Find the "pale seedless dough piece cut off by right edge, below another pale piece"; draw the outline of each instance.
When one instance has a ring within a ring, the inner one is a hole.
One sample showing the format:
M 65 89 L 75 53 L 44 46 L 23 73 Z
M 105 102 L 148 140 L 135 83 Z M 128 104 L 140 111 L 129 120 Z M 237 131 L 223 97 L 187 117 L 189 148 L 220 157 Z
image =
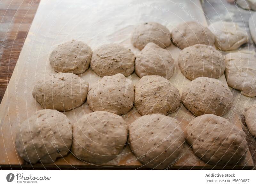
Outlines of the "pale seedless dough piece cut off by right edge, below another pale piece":
M 256 96 L 256 58 L 252 54 L 232 52 L 226 55 L 228 86 L 248 97 Z

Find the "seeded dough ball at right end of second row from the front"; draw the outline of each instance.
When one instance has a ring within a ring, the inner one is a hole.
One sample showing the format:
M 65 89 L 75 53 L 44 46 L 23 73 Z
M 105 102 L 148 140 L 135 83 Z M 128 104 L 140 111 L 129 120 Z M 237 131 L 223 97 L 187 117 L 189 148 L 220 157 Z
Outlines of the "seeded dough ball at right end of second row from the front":
M 195 116 L 203 114 L 226 114 L 233 103 L 233 95 L 221 81 L 199 77 L 189 82 L 181 96 L 184 106 Z

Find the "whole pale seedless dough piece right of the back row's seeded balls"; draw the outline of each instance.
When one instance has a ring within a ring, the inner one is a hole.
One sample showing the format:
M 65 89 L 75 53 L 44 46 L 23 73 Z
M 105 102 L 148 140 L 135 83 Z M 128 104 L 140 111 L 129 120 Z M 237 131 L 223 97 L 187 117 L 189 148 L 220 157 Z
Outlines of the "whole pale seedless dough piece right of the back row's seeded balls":
M 236 23 L 218 21 L 208 27 L 215 35 L 215 46 L 220 50 L 236 50 L 248 43 L 246 31 Z

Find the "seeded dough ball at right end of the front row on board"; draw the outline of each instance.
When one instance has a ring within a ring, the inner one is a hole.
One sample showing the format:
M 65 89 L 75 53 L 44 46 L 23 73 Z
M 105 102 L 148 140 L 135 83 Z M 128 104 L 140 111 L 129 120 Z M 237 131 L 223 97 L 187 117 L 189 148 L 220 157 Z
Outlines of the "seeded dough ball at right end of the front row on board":
M 206 163 L 236 165 L 246 155 L 244 131 L 220 116 L 198 116 L 189 123 L 186 133 L 188 144 Z

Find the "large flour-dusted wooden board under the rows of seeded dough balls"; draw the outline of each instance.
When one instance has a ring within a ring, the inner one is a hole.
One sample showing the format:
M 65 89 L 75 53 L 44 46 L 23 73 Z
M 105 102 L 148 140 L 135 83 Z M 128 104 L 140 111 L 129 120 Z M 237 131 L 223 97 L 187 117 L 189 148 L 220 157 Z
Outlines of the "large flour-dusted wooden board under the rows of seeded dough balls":
M 187 13 L 190 11 L 189 13 Z M 95 4 L 94 1 L 78 1 L 75 4 L 71 1 L 42 0 L 38 11 L 29 30 L 28 37 L 20 53 L 19 60 L 14 69 L 12 78 L 5 92 L 0 105 L 1 137 L 0 137 L 0 165 L 12 167 L 29 167 L 17 155 L 14 141 L 17 128 L 27 117 L 30 117 L 42 107 L 32 97 L 35 80 L 44 78 L 45 75 L 56 73 L 49 65 L 48 57 L 53 47 L 59 43 L 78 39 L 88 43 L 92 49 L 103 43 L 118 43 L 130 48 L 135 54 L 139 52 L 130 43 L 131 31 L 136 24 L 141 22 L 156 21 L 170 30 L 172 27 L 183 21 L 196 20 L 207 25 L 201 4 L 195 1 L 145 1 L 138 4 L 135 0 L 130 1 L 101 1 Z M 168 47 L 173 58 L 179 54 L 175 46 Z M 91 69 L 81 76 L 89 83 L 97 81 L 98 77 Z M 128 77 L 134 84 L 139 80 L 136 74 Z M 226 83 L 225 76 L 220 80 Z M 182 87 L 189 82 L 181 74 L 178 65 L 175 65 L 175 73 L 170 81 L 181 91 Z M 75 122 L 85 113 L 92 112 L 87 102 L 82 106 L 65 112 L 68 118 Z M 131 123 L 139 113 L 135 108 L 125 114 L 123 118 Z M 178 119 L 181 127 L 185 130 L 189 121 L 194 116 L 184 107 L 170 114 Z M 239 118 L 233 109 L 228 112 L 225 118 L 241 128 Z M 35 164 L 33 167 L 73 167 L 73 168 L 145 168 L 126 145 L 120 156 L 103 165 L 91 165 L 76 159 L 72 154 L 58 159 L 54 164 Z M 227 166 L 227 169 L 249 169 L 253 166 L 250 152 L 246 158 L 237 165 Z M 170 168 L 195 168 L 212 169 L 223 168 L 205 164 L 199 160 L 192 149 L 185 144 L 183 153 L 178 157 L 177 162 Z

